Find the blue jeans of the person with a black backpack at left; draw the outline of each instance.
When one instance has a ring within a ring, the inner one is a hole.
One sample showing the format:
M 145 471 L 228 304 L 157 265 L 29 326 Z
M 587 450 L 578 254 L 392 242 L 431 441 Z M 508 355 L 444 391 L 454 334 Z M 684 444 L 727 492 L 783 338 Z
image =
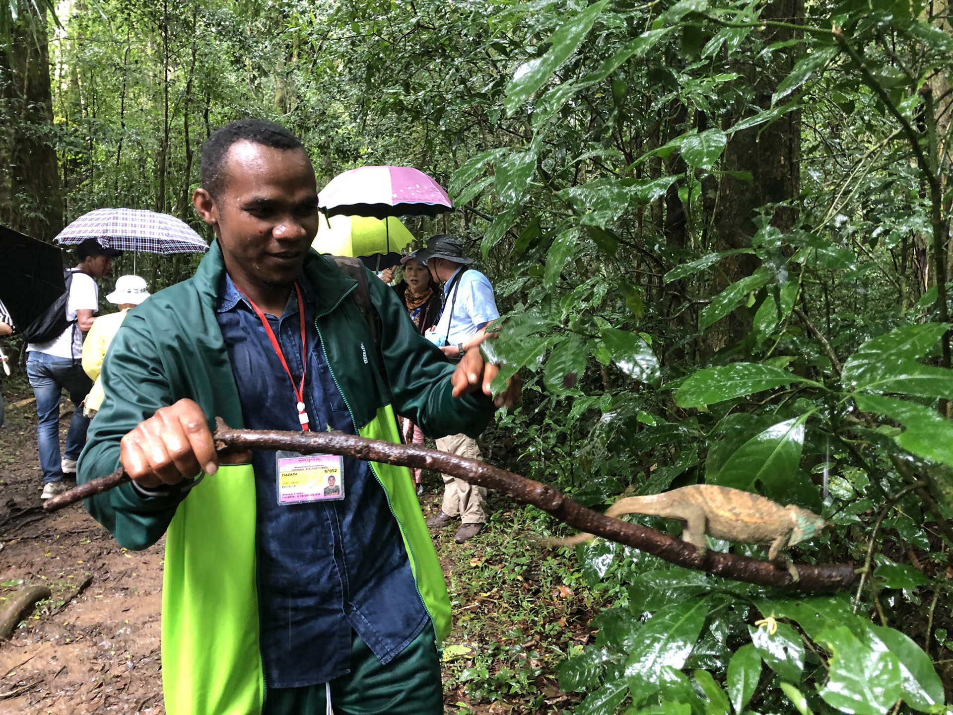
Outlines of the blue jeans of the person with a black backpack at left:
M 76 406 L 72 413 L 70 432 L 66 438 L 66 457 L 75 460 L 86 444 L 86 430 L 90 419 L 83 417 L 80 403 L 92 387 L 92 380 L 83 372 L 80 360 L 30 351 L 27 357 L 27 377 L 36 396 L 37 441 L 40 447 L 40 466 L 43 483 L 63 479 L 59 451 L 59 401 L 65 389 Z

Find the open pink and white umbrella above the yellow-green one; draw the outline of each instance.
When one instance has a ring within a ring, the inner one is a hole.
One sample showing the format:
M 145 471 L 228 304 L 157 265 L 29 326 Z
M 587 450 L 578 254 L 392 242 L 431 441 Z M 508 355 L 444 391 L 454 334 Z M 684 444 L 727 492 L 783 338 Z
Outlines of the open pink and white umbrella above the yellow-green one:
M 436 216 L 454 210 L 434 179 L 407 166 L 364 166 L 338 174 L 318 196 L 329 216 Z

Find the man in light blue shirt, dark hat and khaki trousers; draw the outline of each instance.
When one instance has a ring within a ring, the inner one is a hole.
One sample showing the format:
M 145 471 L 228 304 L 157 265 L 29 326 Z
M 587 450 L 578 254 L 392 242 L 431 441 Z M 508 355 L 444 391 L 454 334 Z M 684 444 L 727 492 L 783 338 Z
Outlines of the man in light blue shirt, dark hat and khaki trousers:
M 482 342 L 486 326 L 499 317 L 493 286 L 486 276 L 468 268 L 473 258 L 463 255 L 463 244 L 452 235 L 435 235 L 419 252 L 437 283 L 443 283 L 443 313 L 424 336 L 451 360 L 459 360 L 468 348 Z M 450 435 L 436 440 L 441 452 L 480 459 L 476 439 Z M 454 541 L 473 539 L 486 523 L 486 489 L 452 475 L 443 475 L 443 505 L 436 517 L 427 521 L 432 528 L 445 528 L 460 518 Z

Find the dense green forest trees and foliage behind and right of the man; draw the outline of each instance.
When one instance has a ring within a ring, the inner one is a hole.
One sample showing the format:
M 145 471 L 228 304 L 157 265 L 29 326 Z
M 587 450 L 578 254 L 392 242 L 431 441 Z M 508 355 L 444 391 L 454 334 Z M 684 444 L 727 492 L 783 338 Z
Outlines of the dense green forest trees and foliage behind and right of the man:
M 501 379 L 526 379 L 492 460 L 594 506 L 757 491 L 833 523 L 797 561 L 863 569 L 794 599 L 578 547 L 606 608 L 559 670 L 578 715 L 943 710 L 945 0 L 10 0 L 0 30 L 4 223 L 126 206 L 204 232 L 201 143 L 248 115 L 299 133 L 319 186 L 415 166 L 458 211 L 409 226 L 481 255 Z M 196 265 L 138 260 L 154 288 Z

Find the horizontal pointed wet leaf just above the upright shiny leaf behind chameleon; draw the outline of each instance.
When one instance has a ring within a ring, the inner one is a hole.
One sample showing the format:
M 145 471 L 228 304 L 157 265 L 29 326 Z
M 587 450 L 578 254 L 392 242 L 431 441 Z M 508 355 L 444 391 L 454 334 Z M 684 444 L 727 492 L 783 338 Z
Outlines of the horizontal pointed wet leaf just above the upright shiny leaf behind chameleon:
M 681 383 L 675 401 L 679 407 L 704 407 L 800 381 L 797 375 L 779 367 L 757 362 L 733 362 L 699 370 Z

